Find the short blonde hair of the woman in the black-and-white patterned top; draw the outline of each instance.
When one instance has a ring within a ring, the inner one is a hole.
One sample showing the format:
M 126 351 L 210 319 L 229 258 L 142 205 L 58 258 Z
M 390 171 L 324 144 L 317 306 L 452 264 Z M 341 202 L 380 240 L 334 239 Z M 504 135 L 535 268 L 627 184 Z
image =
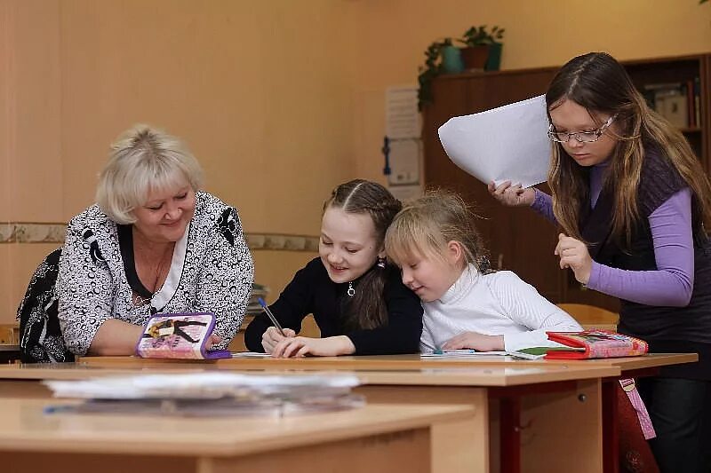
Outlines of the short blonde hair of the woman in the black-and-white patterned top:
M 134 125 L 111 145 L 108 163 L 101 170 L 96 201 L 117 224 L 136 222 L 133 209 L 148 201 L 153 190 L 188 183 L 194 191 L 203 185 L 203 169 L 179 138 L 148 125 Z

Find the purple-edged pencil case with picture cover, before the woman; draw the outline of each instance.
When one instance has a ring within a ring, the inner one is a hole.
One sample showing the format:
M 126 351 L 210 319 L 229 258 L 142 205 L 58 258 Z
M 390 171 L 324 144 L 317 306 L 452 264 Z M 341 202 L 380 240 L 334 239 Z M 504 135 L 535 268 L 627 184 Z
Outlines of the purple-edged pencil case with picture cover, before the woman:
M 210 312 L 156 314 L 146 322 L 136 344 L 142 358 L 223 359 L 226 350 L 207 350 L 215 327 L 215 314 Z

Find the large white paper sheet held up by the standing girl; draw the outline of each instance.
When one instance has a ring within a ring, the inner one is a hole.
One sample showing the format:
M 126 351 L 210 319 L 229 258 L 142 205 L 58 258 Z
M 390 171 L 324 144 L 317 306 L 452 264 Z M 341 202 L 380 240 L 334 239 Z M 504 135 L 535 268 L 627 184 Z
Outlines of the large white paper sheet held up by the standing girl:
M 439 128 L 439 139 L 451 161 L 484 184 L 531 187 L 547 180 L 547 130 L 546 98 L 540 95 L 451 118 Z

